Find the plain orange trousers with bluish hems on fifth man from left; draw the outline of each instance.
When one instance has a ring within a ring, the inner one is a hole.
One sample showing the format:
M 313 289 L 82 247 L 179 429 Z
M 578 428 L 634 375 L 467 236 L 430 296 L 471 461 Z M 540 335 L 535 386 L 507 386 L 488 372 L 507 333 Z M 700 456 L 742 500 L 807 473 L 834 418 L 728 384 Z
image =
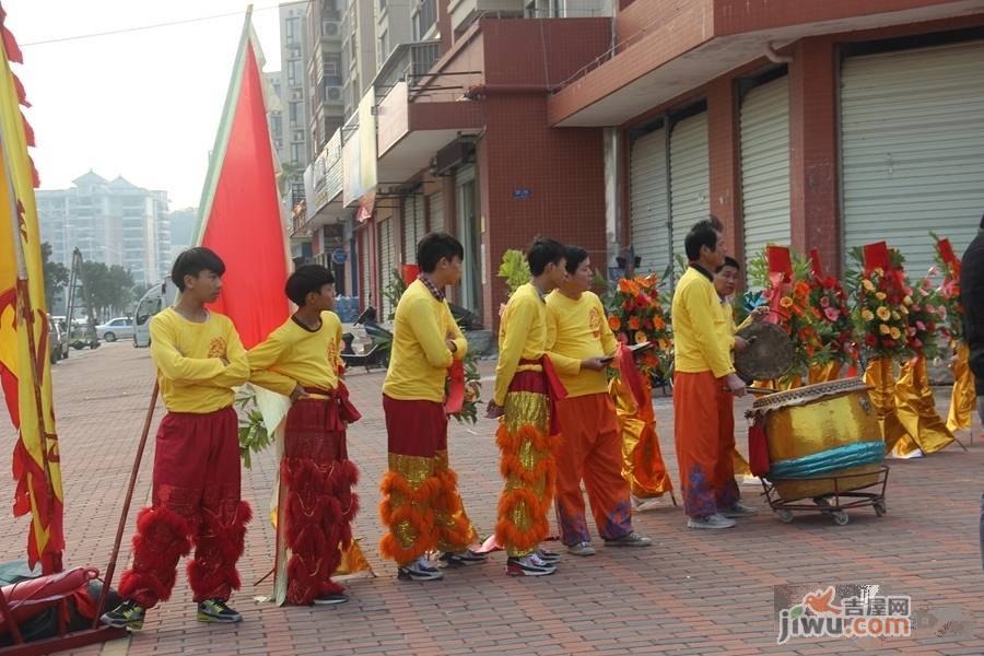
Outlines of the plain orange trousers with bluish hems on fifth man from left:
M 622 478 L 622 433 L 607 393 L 559 400 L 562 442 L 557 454 L 557 523 L 567 547 L 591 539 L 581 480 L 598 534 L 608 540 L 632 532 L 629 483 Z

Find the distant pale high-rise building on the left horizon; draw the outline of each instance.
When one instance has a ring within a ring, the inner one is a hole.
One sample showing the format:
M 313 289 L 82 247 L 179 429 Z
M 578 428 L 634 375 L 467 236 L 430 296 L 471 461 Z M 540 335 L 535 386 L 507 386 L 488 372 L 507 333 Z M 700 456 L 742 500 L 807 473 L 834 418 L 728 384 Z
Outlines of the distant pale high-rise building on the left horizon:
M 152 191 L 118 176 L 107 180 L 90 171 L 70 189 L 39 189 L 42 238 L 52 261 L 71 267 L 79 248 L 87 261 L 129 269 L 138 284 L 161 280 L 171 268 L 167 192 Z

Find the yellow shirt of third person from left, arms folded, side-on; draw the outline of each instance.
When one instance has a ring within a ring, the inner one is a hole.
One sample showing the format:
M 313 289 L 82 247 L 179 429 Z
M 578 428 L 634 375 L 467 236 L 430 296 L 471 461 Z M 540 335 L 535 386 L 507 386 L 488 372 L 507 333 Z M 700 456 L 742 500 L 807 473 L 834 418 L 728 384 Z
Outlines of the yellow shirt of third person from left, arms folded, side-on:
M 454 353 L 444 341 L 448 333 L 457 347 Z M 414 280 L 397 304 L 383 394 L 401 401 L 443 403 L 447 367 L 467 352 L 468 342 L 447 301 L 437 301 L 424 283 Z

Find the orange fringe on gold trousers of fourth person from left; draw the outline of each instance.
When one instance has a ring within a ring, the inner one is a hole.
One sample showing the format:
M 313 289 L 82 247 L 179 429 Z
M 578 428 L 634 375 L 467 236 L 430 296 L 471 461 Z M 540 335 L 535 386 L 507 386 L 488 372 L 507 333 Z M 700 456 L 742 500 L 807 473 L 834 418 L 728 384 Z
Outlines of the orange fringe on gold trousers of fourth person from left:
M 495 538 L 511 554 L 528 553 L 547 539 L 550 531 L 547 514 L 553 503 L 557 481 L 553 453 L 560 436 L 547 435 L 532 425 L 520 426 L 511 434 L 505 424 L 501 424 L 495 442 L 502 452 L 499 470 L 506 481 L 499 500 Z M 519 457 L 526 442 L 537 453 L 532 469 L 527 469 Z M 540 489 L 542 492 L 538 491 Z M 528 517 L 526 527 L 516 522 L 523 514 Z

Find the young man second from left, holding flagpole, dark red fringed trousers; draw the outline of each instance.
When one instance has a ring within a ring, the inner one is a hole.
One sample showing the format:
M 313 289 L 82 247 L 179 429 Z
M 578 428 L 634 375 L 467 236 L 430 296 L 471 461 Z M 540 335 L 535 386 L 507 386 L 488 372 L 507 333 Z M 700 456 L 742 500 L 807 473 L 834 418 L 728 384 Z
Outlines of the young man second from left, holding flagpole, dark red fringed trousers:
M 361 414 L 339 374 L 341 321 L 335 276 L 320 265 L 291 273 L 286 295 L 297 306 L 280 328 L 249 350 L 249 380 L 290 397 L 280 461 L 273 598 L 278 604 L 348 601 L 331 575 L 352 543 L 359 470 L 349 460 L 348 424 Z

